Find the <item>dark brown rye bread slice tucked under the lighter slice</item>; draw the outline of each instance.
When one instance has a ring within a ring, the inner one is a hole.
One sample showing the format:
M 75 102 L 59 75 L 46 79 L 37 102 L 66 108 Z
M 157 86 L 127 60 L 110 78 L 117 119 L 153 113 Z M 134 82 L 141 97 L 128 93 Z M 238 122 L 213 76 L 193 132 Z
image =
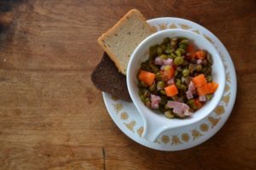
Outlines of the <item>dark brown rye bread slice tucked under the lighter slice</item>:
M 126 77 L 118 71 L 108 54 L 103 54 L 101 62 L 96 66 L 90 78 L 96 88 L 118 99 L 131 102 Z

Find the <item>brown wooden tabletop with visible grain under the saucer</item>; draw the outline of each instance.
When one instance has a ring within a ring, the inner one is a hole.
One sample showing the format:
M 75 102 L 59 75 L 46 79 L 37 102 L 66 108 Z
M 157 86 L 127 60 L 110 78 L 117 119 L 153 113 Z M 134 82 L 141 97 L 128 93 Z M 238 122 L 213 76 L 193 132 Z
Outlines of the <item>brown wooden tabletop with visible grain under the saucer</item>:
M 148 149 L 122 133 L 90 82 L 96 38 L 129 9 L 212 31 L 236 65 L 236 105 L 193 149 Z M 256 3 L 246 1 L 0 1 L 0 169 L 255 169 Z

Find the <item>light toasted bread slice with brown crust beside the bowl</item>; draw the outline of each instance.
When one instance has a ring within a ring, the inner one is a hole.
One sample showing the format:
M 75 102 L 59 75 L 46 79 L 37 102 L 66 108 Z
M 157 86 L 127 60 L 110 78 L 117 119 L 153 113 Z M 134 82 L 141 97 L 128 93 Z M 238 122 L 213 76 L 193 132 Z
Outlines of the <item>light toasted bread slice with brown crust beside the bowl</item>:
M 131 9 L 117 24 L 98 38 L 98 43 L 119 71 L 125 75 L 132 52 L 151 33 L 143 14 L 137 9 Z

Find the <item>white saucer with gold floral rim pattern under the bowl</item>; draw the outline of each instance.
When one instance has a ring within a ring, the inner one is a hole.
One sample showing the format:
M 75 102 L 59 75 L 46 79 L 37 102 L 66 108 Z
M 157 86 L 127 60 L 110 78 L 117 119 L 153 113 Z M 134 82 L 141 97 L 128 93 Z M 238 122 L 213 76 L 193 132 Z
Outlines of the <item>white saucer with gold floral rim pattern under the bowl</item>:
M 143 120 L 137 112 L 135 105 L 123 100 L 114 99 L 106 93 L 102 93 L 103 99 L 113 122 L 121 131 L 137 143 L 155 150 L 185 150 L 210 139 L 227 121 L 236 99 L 236 71 L 230 54 L 224 48 L 222 42 L 203 26 L 189 20 L 167 17 L 148 20 L 148 24 L 154 31 L 173 28 L 194 31 L 207 38 L 209 42 L 212 42 L 224 61 L 226 71 L 226 86 L 221 102 L 211 115 L 201 122 L 166 131 L 153 143 L 141 137 L 143 133 Z

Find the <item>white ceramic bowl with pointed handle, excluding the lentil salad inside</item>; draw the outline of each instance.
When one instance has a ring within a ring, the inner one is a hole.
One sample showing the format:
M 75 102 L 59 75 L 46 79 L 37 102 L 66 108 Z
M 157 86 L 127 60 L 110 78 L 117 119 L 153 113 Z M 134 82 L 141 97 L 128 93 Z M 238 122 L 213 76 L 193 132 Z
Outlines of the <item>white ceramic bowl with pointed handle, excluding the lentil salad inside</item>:
M 157 43 L 161 43 L 165 37 L 186 37 L 189 40 L 192 40 L 198 48 L 205 49 L 207 52 L 212 54 L 212 79 L 214 82 L 218 82 L 218 89 L 214 93 L 212 99 L 208 101 L 206 105 L 204 105 L 200 110 L 195 111 L 193 116 L 185 119 L 168 119 L 166 116 L 164 116 L 164 114 L 150 110 L 143 104 L 138 95 L 137 71 L 140 68 L 141 63 L 148 59 L 149 47 Z M 187 126 L 195 122 L 199 122 L 201 119 L 208 116 L 218 105 L 218 102 L 224 94 L 225 71 L 218 51 L 212 46 L 212 43 L 207 41 L 206 38 L 201 37 L 192 31 L 170 29 L 158 31 L 152 34 L 137 46 L 131 55 L 131 59 L 128 64 L 126 80 L 131 99 L 134 105 L 137 107 L 138 112 L 143 117 L 143 137 L 150 141 L 154 141 L 158 138 L 160 133 L 163 133 L 166 130 L 175 127 Z

